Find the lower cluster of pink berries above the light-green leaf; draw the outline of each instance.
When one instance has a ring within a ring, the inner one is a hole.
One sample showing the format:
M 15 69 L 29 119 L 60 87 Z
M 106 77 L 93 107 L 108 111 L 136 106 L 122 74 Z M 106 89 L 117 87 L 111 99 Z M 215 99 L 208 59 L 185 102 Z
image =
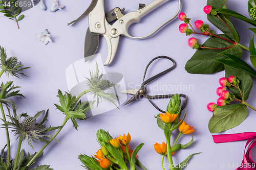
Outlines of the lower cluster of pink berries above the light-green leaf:
M 232 93 L 229 93 L 225 86 L 236 86 L 239 84 L 239 80 L 234 77 L 234 76 L 229 76 L 229 78 L 220 78 L 219 79 L 219 84 L 221 87 L 218 87 L 216 90 L 216 93 L 220 98 L 217 100 L 217 105 L 218 106 L 225 106 L 227 103 L 230 103 L 233 101 L 234 95 Z M 208 103 L 207 104 L 207 109 L 209 111 L 214 111 L 217 105 L 214 102 Z

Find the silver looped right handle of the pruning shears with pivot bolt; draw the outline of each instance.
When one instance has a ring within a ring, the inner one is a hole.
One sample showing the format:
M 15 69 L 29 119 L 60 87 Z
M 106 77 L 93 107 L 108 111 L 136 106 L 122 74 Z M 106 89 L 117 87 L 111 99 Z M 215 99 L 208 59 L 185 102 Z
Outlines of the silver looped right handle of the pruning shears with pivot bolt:
M 145 38 L 151 37 L 158 30 L 160 30 L 168 22 L 172 21 L 179 14 L 180 9 L 181 9 L 181 2 L 180 2 L 180 0 L 178 0 L 179 8 L 178 8 L 178 11 L 176 12 L 176 14 L 173 17 L 171 17 L 168 20 L 166 20 L 165 22 L 163 22 L 152 33 L 150 33 L 148 35 L 145 35 L 145 36 L 142 36 L 142 37 L 133 37 L 133 36 L 131 36 L 127 32 L 127 30 L 129 28 L 129 26 L 132 25 L 132 23 L 139 22 L 142 17 L 144 17 L 146 14 L 150 13 L 154 9 L 158 8 L 159 6 L 163 5 L 167 1 L 169 1 L 169 0 L 155 0 L 155 1 L 153 1 L 150 4 L 148 4 L 147 6 L 145 6 L 144 8 L 142 8 L 140 10 L 133 11 L 133 12 L 130 12 L 130 13 L 126 14 L 126 15 L 121 16 L 120 18 L 118 18 L 118 20 L 109 29 L 109 35 L 111 37 L 113 37 L 113 38 L 118 37 L 120 35 L 124 35 L 124 36 L 126 36 L 128 38 L 131 38 L 131 39 L 145 39 Z M 116 12 L 116 15 L 118 15 L 118 11 Z

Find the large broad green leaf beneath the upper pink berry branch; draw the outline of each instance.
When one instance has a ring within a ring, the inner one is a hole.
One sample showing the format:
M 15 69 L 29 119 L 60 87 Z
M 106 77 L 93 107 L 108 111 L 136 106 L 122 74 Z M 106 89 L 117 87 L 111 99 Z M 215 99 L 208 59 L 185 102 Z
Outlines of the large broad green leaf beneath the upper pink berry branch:
M 223 34 L 218 36 L 229 39 L 226 35 Z M 225 48 L 231 45 L 233 44 L 226 40 L 218 37 L 212 37 L 207 39 L 202 46 L 211 48 Z M 187 61 L 185 69 L 190 74 L 212 74 L 214 72 L 224 70 L 223 64 L 216 62 L 215 59 L 227 59 L 227 57 L 223 56 L 223 54 L 231 54 L 241 58 L 242 53 L 243 50 L 239 45 L 234 45 L 231 48 L 227 48 L 225 50 L 211 50 L 206 48 L 199 49 Z

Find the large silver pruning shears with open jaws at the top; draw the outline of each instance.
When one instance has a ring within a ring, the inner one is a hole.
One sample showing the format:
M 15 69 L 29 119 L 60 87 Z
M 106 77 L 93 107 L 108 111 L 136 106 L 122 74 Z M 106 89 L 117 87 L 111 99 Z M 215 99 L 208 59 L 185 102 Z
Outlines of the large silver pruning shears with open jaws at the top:
M 123 15 L 124 9 L 114 8 L 108 13 L 104 13 L 104 1 L 97 0 L 97 3 L 94 9 L 89 13 L 89 31 L 86 34 L 86 43 L 84 43 L 84 58 L 85 61 L 88 61 L 92 55 L 97 51 L 99 40 L 99 35 L 103 36 L 108 44 L 108 57 L 104 65 L 109 65 L 116 54 L 117 46 L 119 42 L 119 37 L 121 35 L 131 38 L 131 39 L 145 39 L 154 35 L 159 29 L 165 26 L 168 22 L 172 21 L 179 13 L 181 8 L 181 2 L 179 2 L 179 8 L 177 13 L 163 22 L 159 27 L 157 27 L 152 33 L 142 36 L 142 37 L 133 37 L 128 32 L 127 29 L 134 22 L 139 22 L 142 17 L 150 13 L 157 7 L 163 5 L 169 0 L 155 0 L 152 3 L 144 6 L 139 5 L 139 10 L 127 13 Z M 112 15 L 114 14 L 114 15 Z M 117 20 L 116 20 L 117 19 Z M 113 25 L 110 25 L 109 22 L 116 20 Z

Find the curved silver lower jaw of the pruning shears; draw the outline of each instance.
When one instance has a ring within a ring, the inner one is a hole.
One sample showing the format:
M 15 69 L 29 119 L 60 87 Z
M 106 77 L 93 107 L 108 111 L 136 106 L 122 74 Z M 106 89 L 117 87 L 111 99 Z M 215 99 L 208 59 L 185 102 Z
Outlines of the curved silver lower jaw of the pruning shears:
M 107 35 L 107 34 L 103 34 L 103 36 L 106 40 L 106 43 L 108 44 L 108 57 L 106 58 L 104 65 L 109 65 L 110 63 L 112 63 L 116 55 L 116 50 L 117 50 L 120 36 L 116 38 L 112 38 L 110 35 Z

